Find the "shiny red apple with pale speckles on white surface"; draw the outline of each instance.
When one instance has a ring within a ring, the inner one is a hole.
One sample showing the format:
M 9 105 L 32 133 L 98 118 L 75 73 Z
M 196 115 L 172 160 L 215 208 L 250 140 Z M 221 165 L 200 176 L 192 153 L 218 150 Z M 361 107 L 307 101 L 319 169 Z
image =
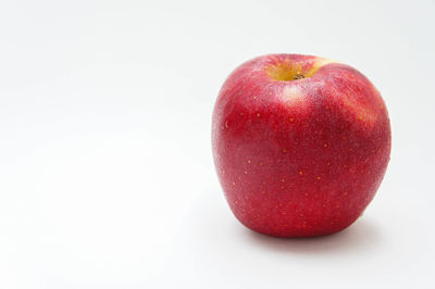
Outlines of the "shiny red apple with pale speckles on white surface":
M 265 235 L 348 227 L 375 196 L 390 147 L 380 92 L 357 70 L 322 58 L 248 61 L 225 80 L 213 111 L 225 198 L 237 219 Z

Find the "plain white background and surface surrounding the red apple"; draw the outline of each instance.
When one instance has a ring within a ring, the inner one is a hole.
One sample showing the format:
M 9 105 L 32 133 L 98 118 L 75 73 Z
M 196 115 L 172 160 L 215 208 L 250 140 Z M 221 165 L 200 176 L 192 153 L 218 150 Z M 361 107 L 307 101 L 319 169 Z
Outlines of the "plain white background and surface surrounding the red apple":
M 434 288 L 434 1 L 1 1 L 0 288 Z M 304 53 L 381 90 L 391 161 L 330 237 L 253 234 L 214 173 L 220 86 Z

